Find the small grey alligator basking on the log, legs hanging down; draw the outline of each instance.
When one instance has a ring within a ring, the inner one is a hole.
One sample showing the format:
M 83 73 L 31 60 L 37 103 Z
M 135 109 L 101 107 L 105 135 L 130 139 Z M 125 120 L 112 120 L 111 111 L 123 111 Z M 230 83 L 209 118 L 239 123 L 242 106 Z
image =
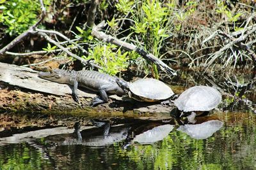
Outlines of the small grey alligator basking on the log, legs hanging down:
M 99 96 L 93 98 L 90 106 L 108 103 L 108 94 L 116 94 L 118 96 L 124 96 L 125 94 L 124 90 L 116 83 L 117 77 L 98 71 L 54 69 L 51 72 L 40 72 L 38 76 L 57 83 L 72 85 L 72 96 L 76 102 L 79 102 L 77 86 L 98 92 Z

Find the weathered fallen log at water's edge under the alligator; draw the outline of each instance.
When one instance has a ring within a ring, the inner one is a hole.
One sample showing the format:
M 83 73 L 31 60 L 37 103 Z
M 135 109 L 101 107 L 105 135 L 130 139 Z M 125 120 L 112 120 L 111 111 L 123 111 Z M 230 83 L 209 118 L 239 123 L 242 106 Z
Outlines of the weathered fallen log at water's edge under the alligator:
M 38 77 L 38 71 L 27 67 L 0 62 L 0 110 L 70 111 L 83 110 L 95 114 L 119 111 L 132 113 L 169 113 L 171 108 L 159 103 L 140 103 L 124 97 L 109 96 L 109 103 L 90 108 L 90 102 L 97 94 L 79 89 L 80 103 L 72 99 L 72 90 L 67 84 L 60 84 Z

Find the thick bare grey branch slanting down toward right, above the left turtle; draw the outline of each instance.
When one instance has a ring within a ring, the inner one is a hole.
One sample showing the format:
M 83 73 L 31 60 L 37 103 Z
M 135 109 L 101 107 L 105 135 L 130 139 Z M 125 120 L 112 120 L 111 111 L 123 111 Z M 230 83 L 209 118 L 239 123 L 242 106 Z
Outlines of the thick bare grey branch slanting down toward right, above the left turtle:
M 167 73 L 170 73 L 172 75 L 176 75 L 175 71 L 167 66 L 163 61 L 157 59 L 154 55 L 151 53 L 147 53 L 144 50 L 138 48 L 135 45 L 131 45 L 130 43 L 126 43 L 124 41 L 121 41 L 120 39 L 114 38 L 113 36 L 109 36 L 108 34 L 105 34 L 102 31 L 99 31 L 101 27 L 104 26 L 104 22 L 101 22 L 99 25 L 93 27 L 92 29 L 92 35 L 95 36 L 98 39 L 101 39 L 102 41 L 112 43 L 114 45 L 120 46 L 122 48 L 125 48 L 129 51 L 134 51 L 139 53 L 144 59 L 150 60 L 151 62 L 154 62 L 157 66 L 159 66 L 163 71 L 166 71 Z

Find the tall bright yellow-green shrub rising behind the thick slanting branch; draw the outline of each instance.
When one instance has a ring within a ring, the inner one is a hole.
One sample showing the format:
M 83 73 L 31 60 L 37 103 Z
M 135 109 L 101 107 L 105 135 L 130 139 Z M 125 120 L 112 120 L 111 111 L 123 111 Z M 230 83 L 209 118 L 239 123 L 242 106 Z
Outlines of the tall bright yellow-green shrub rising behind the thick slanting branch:
M 136 37 L 145 43 L 147 52 L 158 56 L 163 39 L 169 36 L 167 33 L 168 26 L 166 26 L 168 8 L 164 7 L 163 3 L 158 0 L 142 1 L 141 4 L 135 1 L 135 4 L 136 8 L 133 9 L 134 1 L 119 1 L 116 8 L 125 15 L 131 13 L 131 20 L 134 21 L 131 29 L 137 34 Z M 158 78 L 157 67 L 151 66 L 154 76 Z

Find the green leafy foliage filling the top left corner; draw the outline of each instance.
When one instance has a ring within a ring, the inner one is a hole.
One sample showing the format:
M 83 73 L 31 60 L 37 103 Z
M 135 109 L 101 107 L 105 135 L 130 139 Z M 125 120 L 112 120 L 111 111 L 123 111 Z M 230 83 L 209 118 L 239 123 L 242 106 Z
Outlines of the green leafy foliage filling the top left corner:
M 26 31 L 37 21 L 40 14 L 40 4 L 37 0 L 0 1 L 0 21 L 6 27 L 5 32 L 15 36 Z

